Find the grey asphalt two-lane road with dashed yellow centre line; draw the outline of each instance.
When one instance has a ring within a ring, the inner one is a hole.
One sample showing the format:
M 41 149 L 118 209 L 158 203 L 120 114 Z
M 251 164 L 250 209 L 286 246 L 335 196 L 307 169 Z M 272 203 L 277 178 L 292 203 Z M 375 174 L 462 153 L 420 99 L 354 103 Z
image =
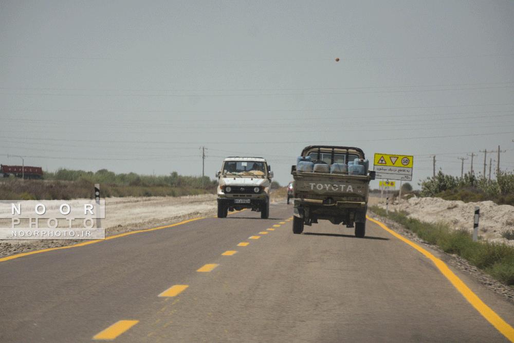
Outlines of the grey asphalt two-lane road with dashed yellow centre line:
M 0 262 L 0 341 L 507 341 L 378 225 L 365 239 L 327 222 L 295 235 L 291 213 L 276 205 L 269 220 L 247 210 Z M 514 305 L 452 270 L 514 324 Z M 104 331 L 120 320 L 133 321 Z

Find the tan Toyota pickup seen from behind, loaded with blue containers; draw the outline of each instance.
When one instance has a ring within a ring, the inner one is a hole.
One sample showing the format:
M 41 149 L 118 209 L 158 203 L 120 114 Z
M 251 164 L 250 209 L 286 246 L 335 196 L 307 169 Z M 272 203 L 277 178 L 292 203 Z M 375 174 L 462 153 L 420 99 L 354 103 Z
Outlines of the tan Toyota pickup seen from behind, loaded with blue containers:
M 293 233 L 304 225 L 328 220 L 354 227 L 355 236 L 365 236 L 370 180 L 364 152 L 354 147 L 308 146 L 292 166 L 295 197 Z M 355 164 L 355 166 L 354 166 Z

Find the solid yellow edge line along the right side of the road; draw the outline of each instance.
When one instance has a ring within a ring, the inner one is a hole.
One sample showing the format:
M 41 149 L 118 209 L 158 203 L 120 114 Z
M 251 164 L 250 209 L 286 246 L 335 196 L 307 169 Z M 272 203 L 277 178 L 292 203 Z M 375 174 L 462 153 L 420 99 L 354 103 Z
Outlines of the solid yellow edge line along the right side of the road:
M 474 294 L 473 291 L 471 291 L 470 288 L 464 283 L 464 281 L 459 279 L 442 260 L 436 258 L 434 255 L 430 254 L 429 251 L 420 247 L 416 243 L 408 240 L 403 236 L 400 236 L 400 234 L 394 232 L 385 224 L 377 220 L 374 220 L 367 215 L 366 218 L 368 218 L 369 221 L 380 226 L 382 229 L 391 233 L 397 239 L 409 244 L 411 247 L 418 250 L 419 252 L 421 252 L 421 254 L 425 255 L 425 257 L 431 260 L 439 269 L 439 271 L 452 283 L 452 285 L 457 289 L 457 291 L 460 292 L 464 296 L 464 298 L 466 298 L 466 300 L 469 301 L 469 303 L 475 308 L 476 311 L 478 311 L 488 322 L 490 322 L 494 328 L 496 328 L 505 337 L 507 337 L 508 340 L 514 342 L 514 329 L 497 313 L 495 313 L 489 306 L 487 306 L 482 301 L 482 299 L 480 299 L 476 294 Z

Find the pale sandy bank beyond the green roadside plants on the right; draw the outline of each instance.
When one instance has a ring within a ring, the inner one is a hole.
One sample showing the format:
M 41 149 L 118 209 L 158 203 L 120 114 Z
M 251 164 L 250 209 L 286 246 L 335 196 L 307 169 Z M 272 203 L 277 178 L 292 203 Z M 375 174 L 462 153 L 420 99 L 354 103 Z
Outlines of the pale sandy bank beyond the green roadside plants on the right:
M 371 198 L 370 204 L 386 208 L 380 198 Z M 480 207 L 479 236 L 490 242 L 514 246 L 514 240 L 501 236 L 502 232 L 514 230 L 514 206 L 497 205 L 492 201 L 464 203 L 448 201 L 437 197 L 412 197 L 389 204 L 391 211 L 406 211 L 411 218 L 423 222 L 443 222 L 453 229 L 473 232 L 475 206 Z

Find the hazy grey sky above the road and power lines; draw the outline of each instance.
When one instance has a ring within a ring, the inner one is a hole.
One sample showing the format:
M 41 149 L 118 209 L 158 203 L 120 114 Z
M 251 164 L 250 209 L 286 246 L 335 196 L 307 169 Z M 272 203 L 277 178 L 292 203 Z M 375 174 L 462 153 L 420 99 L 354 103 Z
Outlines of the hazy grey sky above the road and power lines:
M 512 170 L 513 38 L 507 0 L 0 0 L 0 161 L 198 175 L 205 146 L 208 176 L 256 155 L 285 184 L 327 143 L 414 155 L 416 184 L 501 145 Z

